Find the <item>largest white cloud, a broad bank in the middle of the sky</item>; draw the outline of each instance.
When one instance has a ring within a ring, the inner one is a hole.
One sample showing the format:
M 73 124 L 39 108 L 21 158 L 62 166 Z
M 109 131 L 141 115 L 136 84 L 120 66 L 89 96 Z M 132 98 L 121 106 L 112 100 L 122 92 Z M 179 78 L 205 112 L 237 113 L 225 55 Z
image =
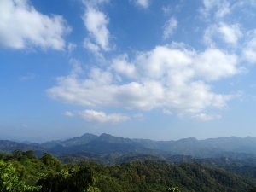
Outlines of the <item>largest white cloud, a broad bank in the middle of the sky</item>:
M 239 72 L 236 55 L 220 49 L 197 52 L 156 46 L 130 60 L 119 56 L 104 69 L 91 68 L 85 78 L 72 74 L 60 77 L 47 92 L 57 100 L 91 108 L 165 108 L 192 114 L 223 108 L 231 96 L 215 93 L 211 82 Z

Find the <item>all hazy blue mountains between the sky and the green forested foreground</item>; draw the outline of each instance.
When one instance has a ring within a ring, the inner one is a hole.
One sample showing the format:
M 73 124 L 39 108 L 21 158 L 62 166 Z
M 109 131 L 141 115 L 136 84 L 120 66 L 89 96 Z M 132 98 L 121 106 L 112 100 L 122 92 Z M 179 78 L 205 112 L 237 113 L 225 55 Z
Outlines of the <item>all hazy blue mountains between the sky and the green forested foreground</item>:
M 54 154 L 62 162 L 92 160 L 105 165 L 154 160 L 172 164 L 196 163 L 221 167 L 256 179 L 256 137 L 219 137 L 198 140 L 154 141 L 85 133 L 63 141 L 17 143 L 0 140 L 0 152 L 33 150 L 40 157 Z M 1 153 L 0 153 L 1 155 Z

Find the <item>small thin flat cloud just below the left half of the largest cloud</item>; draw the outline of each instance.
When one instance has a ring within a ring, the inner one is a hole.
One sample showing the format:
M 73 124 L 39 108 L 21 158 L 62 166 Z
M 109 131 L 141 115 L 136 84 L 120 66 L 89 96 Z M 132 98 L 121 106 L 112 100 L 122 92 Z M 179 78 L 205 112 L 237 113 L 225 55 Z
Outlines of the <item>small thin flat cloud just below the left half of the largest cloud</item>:
M 101 111 L 95 110 L 84 110 L 79 112 L 79 116 L 84 118 L 89 122 L 97 122 L 97 123 L 120 123 L 130 119 L 130 117 L 120 114 L 120 113 L 110 113 L 106 114 Z

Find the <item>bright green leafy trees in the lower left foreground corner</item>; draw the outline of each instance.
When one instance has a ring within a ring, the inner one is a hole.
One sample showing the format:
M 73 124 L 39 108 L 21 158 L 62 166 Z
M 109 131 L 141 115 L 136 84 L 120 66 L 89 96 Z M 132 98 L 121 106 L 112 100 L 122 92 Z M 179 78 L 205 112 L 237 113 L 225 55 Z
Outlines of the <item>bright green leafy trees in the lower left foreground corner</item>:
M 1 154 L 2 192 L 84 192 L 93 183 L 89 166 L 63 165 L 51 154 L 36 158 L 32 151 Z

